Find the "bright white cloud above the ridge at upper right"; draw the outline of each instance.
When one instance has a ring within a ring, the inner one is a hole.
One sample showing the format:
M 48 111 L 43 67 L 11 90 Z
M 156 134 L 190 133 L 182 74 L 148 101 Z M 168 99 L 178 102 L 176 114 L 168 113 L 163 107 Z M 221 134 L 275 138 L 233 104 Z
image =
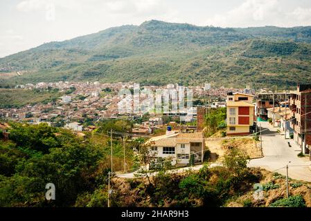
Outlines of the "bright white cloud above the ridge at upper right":
M 221 27 L 311 25 L 311 8 L 287 11 L 279 0 L 246 0 L 229 12 L 206 20 L 206 25 Z

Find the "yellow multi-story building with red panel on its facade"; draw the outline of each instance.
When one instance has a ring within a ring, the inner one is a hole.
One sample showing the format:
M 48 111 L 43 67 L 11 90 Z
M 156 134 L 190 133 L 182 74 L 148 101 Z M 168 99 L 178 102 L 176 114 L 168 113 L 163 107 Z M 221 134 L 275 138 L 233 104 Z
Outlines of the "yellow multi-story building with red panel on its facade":
M 226 134 L 248 135 L 255 119 L 253 95 L 228 93 L 226 99 Z

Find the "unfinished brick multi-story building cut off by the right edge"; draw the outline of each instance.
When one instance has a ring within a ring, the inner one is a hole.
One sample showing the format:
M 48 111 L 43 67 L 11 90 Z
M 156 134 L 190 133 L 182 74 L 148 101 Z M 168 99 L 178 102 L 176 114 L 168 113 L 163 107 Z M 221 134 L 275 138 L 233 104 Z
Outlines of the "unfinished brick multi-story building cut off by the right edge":
M 294 129 L 294 141 L 301 146 L 303 153 L 311 149 L 311 84 L 299 84 L 290 94 L 292 111 L 291 127 Z

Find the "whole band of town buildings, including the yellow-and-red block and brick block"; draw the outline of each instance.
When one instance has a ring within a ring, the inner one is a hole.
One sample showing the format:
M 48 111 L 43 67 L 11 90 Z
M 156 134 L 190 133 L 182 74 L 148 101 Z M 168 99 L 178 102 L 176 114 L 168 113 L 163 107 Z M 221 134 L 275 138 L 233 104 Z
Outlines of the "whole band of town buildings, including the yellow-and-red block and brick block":
M 144 88 L 153 91 L 166 88 L 178 89 L 179 87 L 178 84 L 144 86 Z M 190 86 L 188 88 L 193 90 L 193 108 L 191 109 L 193 117 L 190 119 L 181 118 L 180 113 L 172 114 L 170 112 L 160 114 L 120 113 L 118 102 L 121 101 L 122 96 L 118 95 L 118 91 L 121 88 L 133 90 L 133 82 L 101 84 L 98 81 L 59 81 L 17 85 L 16 88 L 22 90 L 54 89 L 64 95 L 47 104 L 39 103 L 21 108 L 0 109 L 1 119 L 30 124 L 46 122 L 49 126 L 64 127 L 76 132 L 93 131 L 96 128 L 96 122 L 103 119 L 128 119 L 134 122 L 132 128 L 134 136 L 152 135 L 154 131 L 161 129 L 166 131 L 170 137 L 169 140 L 172 140 L 172 137 L 184 136 L 182 135 L 184 133 L 202 133 L 204 116 L 208 115 L 209 110 L 226 108 L 227 136 L 252 135 L 260 130 L 261 122 L 269 122 L 273 128 L 278 128 L 280 133 L 284 134 L 284 139 L 292 139 L 298 144 L 301 153 L 310 155 L 311 85 L 298 84 L 296 90 L 281 92 L 272 92 L 269 88 L 259 91 L 249 87 L 244 89 L 212 88 L 208 83 L 202 86 Z M 137 121 L 142 118 L 143 121 Z M 166 130 L 168 126 L 177 131 L 168 133 Z M 171 144 L 171 146 L 175 146 L 175 144 Z M 200 146 L 202 151 L 204 145 Z M 168 155 L 175 154 L 177 158 L 181 154 L 177 151 L 176 153 L 175 151 L 168 152 L 170 152 Z M 190 152 L 186 153 L 190 154 Z M 183 154 L 186 153 L 183 152 Z

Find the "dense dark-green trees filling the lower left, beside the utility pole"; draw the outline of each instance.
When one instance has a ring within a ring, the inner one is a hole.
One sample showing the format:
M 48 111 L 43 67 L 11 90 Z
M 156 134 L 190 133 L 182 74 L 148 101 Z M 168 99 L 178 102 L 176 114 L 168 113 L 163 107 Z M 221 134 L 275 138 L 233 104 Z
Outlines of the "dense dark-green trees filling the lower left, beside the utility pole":
M 123 169 L 123 145 L 114 138 L 114 169 Z M 133 151 L 126 146 L 126 163 Z M 47 124 L 11 123 L 10 140 L 0 140 L 0 206 L 73 206 L 80 195 L 107 189 L 110 142 L 102 133 L 78 137 Z M 47 183 L 56 199 L 45 199 Z M 79 201 L 79 200 L 78 200 Z

